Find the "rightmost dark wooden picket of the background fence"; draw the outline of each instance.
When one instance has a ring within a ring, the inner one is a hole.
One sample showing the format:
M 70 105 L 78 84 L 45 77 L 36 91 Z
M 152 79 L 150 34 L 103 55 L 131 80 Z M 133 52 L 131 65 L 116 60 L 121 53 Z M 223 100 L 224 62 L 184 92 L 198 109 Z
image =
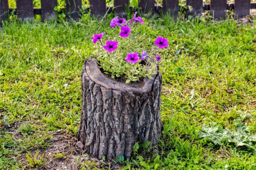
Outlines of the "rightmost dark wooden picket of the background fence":
M 241 18 L 250 15 L 251 0 L 234 0 L 234 12 L 236 17 Z

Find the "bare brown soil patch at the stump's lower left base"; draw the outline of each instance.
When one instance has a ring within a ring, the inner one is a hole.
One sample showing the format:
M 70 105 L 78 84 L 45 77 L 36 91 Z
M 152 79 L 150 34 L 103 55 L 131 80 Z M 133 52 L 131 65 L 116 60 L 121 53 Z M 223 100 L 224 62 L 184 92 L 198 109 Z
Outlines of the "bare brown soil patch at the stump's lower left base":
M 119 169 L 113 163 L 103 162 L 84 154 L 83 151 L 76 146 L 78 139 L 73 135 L 64 133 L 54 133 L 51 135 L 53 138 L 47 141 L 47 143 L 51 143 L 49 147 L 30 150 L 33 157 L 35 152 L 39 151 L 38 159 L 40 159 L 44 154 L 44 165 L 41 165 L 38 168 L 31 168 L 27 161 L 26 153 L 22 153 L 20 155 L 18 162 L 22 166 L 26 166 L 26 170 L 79 170 L 82 167 L 85 169 L 102 169 L 102 164 L 105 165 L 105 169 Z M 54 156 L 57 155 L 57 153 L 65 156 L 63 158 L 57 158 Z M 83 165 L 81 165 L 80 162 L 82 162 Z

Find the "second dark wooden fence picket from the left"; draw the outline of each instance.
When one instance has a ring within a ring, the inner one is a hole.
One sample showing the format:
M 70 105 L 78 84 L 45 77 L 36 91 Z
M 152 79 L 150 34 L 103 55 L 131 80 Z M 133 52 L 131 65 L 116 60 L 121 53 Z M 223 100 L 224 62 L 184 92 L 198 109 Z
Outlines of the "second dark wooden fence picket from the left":
M 18 13 L 18 20 L 33 20 L 34 6 L 33 0 L 16 0 L 16 11 Z

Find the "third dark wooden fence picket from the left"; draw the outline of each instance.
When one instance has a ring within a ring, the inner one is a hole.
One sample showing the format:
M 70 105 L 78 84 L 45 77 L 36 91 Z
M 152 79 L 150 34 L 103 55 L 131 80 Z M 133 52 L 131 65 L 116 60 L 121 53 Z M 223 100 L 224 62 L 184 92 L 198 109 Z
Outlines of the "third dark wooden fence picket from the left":
M 41 16 L 42 22 L 56 18 L 54 7 L 58 5 L 57 0 L 41 0 Z

